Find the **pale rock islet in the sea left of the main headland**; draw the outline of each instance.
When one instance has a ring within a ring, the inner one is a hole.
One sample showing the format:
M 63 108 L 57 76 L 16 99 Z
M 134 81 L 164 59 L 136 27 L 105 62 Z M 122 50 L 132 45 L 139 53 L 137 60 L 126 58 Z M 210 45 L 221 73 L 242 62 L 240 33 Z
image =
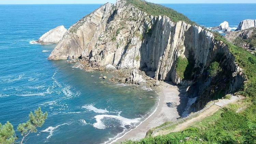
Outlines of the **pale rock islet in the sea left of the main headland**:
M 67 32 L 64 26 L 58 26 L 45 34 L 37 40 L 40 44 L 57 44 L 63 38 L 63 35 Z

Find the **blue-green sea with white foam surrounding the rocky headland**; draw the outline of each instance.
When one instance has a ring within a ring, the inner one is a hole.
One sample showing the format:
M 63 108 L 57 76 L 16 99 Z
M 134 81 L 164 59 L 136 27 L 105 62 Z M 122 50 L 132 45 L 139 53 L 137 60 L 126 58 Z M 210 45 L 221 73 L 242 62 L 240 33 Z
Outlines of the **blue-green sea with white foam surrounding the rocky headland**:
M 108 83 L 114 73 L 85 72 L 47 57 L 56 46 L 33 44 L 57 26 L 69 28 L 102 4 L 0 5 L 0 123 L 16 130 L 30 111 L 48 117 L 26 144 L 110 143 L 155 110 L 156 91 Z M 228 21 L 236 29 L 256 19 L 256 4 L 163 4 L 207 28 Z M 16 135 L 21 137 L 18 131 Z

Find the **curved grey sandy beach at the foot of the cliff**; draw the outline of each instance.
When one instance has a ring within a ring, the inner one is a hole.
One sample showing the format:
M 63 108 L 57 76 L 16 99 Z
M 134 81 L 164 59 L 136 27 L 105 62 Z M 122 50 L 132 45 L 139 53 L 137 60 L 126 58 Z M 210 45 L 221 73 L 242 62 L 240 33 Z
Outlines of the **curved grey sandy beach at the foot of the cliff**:
M 181 117 L 187 105 L 186 89 L 175 86 L 172 83 L 161 82 L 157 93 L 159 95 L 159 102 L 154 113 L 135 129 L 127 132 L 112 143 L 140 140 L 145 137 L 149 129 L 157 127 L 166 121 L 175 121 Z

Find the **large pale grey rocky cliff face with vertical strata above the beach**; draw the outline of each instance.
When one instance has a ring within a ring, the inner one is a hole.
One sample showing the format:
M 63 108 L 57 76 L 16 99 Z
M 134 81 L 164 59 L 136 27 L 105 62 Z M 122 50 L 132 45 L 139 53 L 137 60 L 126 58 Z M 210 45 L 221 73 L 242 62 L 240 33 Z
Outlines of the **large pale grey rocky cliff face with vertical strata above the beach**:
M 82 55 L 101 66 L 154 72 L 157 80 L 190 86 L 191 97 L 207 98 L 195 109 L 212 99 L 212 89 L 226 83 L 224 93 L 234 92 L 244 81 L 228 47 L 216 41 L 211 32 L 182 21 L 174 23 L 167 16 L 148 15 L 125 0 L 117 0 L 115 5 L 106 3 L 79 20 L 48 59 L 66 59 L 68 55 Z M 177 75 L 179 56 L 186 57 L 191 65 L 189 78 Z M 223 76 L 215 79 L 207 74 L 213 61 L 225 68 Z

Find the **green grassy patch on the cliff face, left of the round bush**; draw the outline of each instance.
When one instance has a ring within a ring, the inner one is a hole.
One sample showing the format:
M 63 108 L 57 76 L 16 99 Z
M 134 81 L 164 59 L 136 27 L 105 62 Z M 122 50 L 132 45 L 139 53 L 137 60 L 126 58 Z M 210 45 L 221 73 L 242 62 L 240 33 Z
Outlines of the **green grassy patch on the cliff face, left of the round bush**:
M 184 73 L 185 73 L 185 70 L 186 70 L 187 66 L 188 66 L 187 58 L 185 58 L 185 57 L 183 58 L 183 57 L 179 56 L 178 60 L 177 60 L 177 63 L 175 65 L 175 70 L 176 70 L 177 75 L 181 79 L 185 78 Z

